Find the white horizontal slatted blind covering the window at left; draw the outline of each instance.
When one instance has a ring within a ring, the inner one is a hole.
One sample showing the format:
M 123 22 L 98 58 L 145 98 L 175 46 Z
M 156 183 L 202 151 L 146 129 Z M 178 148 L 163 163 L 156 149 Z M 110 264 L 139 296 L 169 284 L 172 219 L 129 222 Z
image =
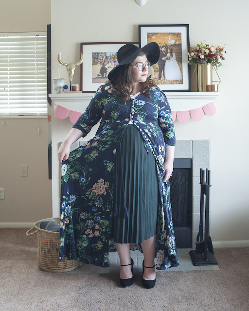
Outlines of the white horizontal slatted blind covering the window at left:
M 0 117 L 47 115 L 47 35 L 0 34 Z

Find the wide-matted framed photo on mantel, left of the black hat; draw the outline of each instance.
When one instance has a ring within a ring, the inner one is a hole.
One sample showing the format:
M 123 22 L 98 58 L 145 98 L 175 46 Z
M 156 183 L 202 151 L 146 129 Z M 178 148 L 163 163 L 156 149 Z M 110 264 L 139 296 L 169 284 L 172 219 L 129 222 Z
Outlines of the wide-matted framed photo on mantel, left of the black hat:
M 139 46 L 138 42 L 81 43 L 83 63 L 80 65 L 80 90 L 95 93 L 106 83 L 108 73 L 118 65 L 117 52 L 127 43 Z

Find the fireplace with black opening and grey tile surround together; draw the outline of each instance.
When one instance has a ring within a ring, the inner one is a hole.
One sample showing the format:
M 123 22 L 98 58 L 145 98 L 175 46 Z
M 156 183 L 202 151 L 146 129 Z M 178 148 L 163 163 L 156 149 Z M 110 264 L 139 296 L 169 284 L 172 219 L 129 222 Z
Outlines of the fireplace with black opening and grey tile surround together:
M 186 172 L 180 173 L 184 171 L 183 168 Z M 210 140 L 177 140 L 170 187 L 173 226 L 178 248 L 195 247 L 200 220 L 201 168 L 210 169 Z M 180 189 L 175 185 L 177 178 L 181 184 Z M 184 183 L 188 185 L 182 190 Z M 184 205 L 188 205 L 186 210 Z

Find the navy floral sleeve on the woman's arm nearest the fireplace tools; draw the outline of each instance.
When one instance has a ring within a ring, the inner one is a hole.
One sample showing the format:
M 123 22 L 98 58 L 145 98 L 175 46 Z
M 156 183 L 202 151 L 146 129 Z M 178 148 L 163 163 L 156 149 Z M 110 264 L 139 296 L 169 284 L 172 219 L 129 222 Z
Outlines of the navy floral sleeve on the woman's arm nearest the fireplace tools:
M 165 145 L 176 146 L 176 136 L 173 120 L 171 117 L 171 109 L 165 94 L 160 91 L 158 124 L 161 128 Z

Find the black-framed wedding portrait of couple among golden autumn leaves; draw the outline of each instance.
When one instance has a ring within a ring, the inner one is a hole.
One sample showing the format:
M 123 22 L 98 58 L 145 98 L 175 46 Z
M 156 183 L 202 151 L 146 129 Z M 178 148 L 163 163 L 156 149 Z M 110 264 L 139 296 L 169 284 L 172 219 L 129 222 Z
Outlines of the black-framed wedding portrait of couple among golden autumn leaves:
M 153 80 L 163 92 L 191 91 L 188 64 L 189 25 L 139 25 L 139 45 L 160 46 L 160 58 L 153 65 Z

